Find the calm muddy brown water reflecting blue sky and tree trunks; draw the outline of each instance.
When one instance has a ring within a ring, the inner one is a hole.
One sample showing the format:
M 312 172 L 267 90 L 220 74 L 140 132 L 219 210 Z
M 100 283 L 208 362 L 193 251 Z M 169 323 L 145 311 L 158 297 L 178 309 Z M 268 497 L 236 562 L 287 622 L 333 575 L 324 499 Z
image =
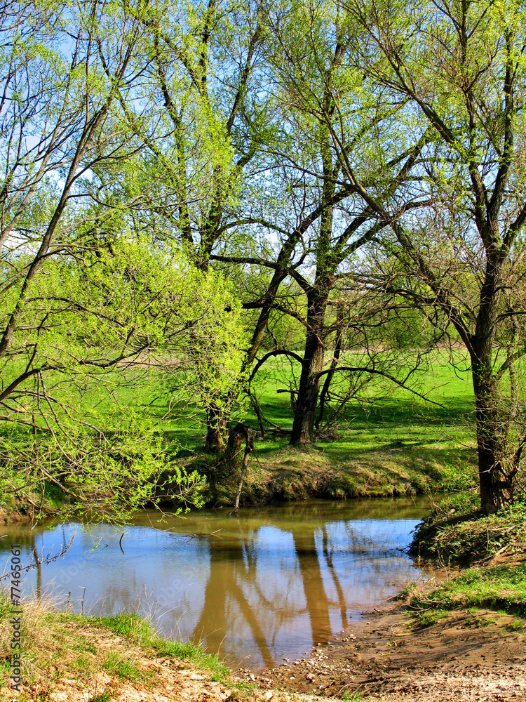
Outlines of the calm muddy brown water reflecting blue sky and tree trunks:
M 64 557 L 25 573 L 26 596 L 52 595 L 85 614 L 138 611 L 163 635 L 201 641 L 234 668 L 274 667 L 426 577 L 403 549 L 430 508 L 429 498 L 312 501 L 162 522 L 146 510 L 124 530 L 4 527 L 0 573 L 13 543 L 29 564 L 75 534 Z

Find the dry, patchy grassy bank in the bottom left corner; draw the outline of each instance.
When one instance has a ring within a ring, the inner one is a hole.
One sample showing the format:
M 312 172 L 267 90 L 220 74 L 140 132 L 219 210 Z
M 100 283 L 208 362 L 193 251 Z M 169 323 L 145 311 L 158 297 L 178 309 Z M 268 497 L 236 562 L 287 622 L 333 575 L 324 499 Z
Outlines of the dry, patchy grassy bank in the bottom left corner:
M 9 689 L 11 609 L 1 595 L 0 699 L 5 700 L 14 695 Z M 189 678 L 191 689 L 192 680 L 222 684 L 229 674 L 217 656 L 159 637 L 149 621 L 135 614 L 95 618 L 36 601 L 23 603 L 22 612 L 20 702 L 109 702 L 127 691 L 135 699 L 132 689 L 157 699 L 156 688 L 176 689 L 181 677 Z

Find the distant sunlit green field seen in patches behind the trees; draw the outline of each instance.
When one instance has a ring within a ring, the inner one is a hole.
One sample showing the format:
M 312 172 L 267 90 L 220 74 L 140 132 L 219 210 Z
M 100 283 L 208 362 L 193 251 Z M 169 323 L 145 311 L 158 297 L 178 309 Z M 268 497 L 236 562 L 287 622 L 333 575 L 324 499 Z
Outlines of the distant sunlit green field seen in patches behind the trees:
M 466 461 L 473 457 L 474 399 L 471 373 L 465 358 L 457 353 L 457 370 L 448 363 L 446 352 L 436 353 L 429 368 L 419 371 L 413 380 L 414 389 L 437 404 L 431 404 L 399 388 L 388 380 L 371 383 L 363 401 L 351 400 L 346 411 L 333 429 L 334 439 L 321 440 L 322 448 L 332 461 L 363 459 L 370 453 L 384 451 L 417 450 L 435 458 L 439 463 Z M 290 395 L 276 390 L 288 388 L 292 380 L 290 364 L 273 359 L 255 380 L 255 391 L 264 416 L 287 430 L 292 428 L 293 414 Z M 464 368 L 464 372 L 459 371 Z M 153 411 L 157 417 L 168 411 L 166 384 L 159 376 L 150 376 L 148 383 L 137 378 L 137 388 L 121 388 L 121 404 L 140 413 L 141 408 Z M 95 397 L 93 398 L 95 399 Z M 101 393 L 102 399 L 102 393 Z M 96 403 L 95 403 L 96 404 Z M 98 409 L 102 409 L 98 406 Z M 183 449 L 194 450 L 203 443 L 205 427 L 203 416 L 187 404 L 173 408 L 178 419 L 161 423 L 163 433 L 175 440 Z M 257 420 L 248 407 L 248 421 L 257 429 Z M 273 453 L 287 444 L 285 437 L 273 438 L 267 434 L 259 439 L 260 453 Z

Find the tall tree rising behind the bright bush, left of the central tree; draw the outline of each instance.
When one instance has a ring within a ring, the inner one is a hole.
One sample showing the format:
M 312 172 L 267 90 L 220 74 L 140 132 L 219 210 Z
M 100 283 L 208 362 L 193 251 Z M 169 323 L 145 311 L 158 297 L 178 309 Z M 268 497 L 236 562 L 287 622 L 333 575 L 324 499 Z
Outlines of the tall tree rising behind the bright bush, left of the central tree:
M 207 270 L 210 253 L 237 223 L 237 199 L 267 127 L 259 71 L 264 41 L 259 3 L 211 0 L 203 6 L 156 0 L 131 12 L 149 47 L 137 65 L 141 99 L 121 107 L 144 147 L 148 204 L 137 222 L 174 239 Z M 224 448 L 231 404 L 206 405 L 209 451 Z

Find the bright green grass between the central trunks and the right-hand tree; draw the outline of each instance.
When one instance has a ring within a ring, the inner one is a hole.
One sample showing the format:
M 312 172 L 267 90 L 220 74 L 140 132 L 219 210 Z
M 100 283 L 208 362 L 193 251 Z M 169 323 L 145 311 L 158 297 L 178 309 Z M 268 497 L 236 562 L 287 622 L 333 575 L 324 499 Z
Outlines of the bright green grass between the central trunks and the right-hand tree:
M 461 364 L 464 356 L 457 353 Z M 469 372 L 455 371 L 446 352 L 437 352 L 428 369 L 415 376 L 414 389 L 433 402 L 425 402 L 408 390 L 388 381 L 367 385 L 362 398 L 351 400 L 336 426 L 337 438 L 318 442 L 334 460 L 362 457 L 382 450 L 425 446 L 429 453 L 440 454 L 441 463 L 462 456 L 459 443 L 473 445 L 473 388 Z M 467 368 L 466 364 L 464 366 Z M 275 362 L 268 366 L 255 389 L 267 418 L 285 429 L 292 428 L 292 409 L 288 395 L 278 395 L 292 380 L 288 365 Z M 274 450 L 283 442 L 268 440 L 260 451 Z M 449 453 L 443 460 L 444 452 Z

